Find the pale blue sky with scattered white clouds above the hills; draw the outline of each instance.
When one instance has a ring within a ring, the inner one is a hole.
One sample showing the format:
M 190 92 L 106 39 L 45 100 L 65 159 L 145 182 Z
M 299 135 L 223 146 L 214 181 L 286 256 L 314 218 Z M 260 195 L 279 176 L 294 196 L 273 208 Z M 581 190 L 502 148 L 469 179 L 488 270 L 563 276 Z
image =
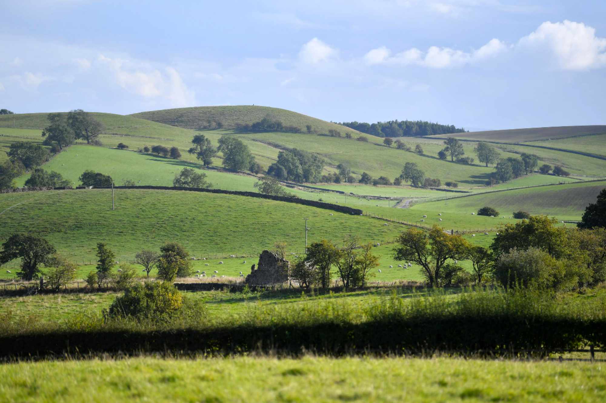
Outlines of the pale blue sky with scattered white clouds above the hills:
M 0 108 L 606 124 L 606 2 L 5 1 Z

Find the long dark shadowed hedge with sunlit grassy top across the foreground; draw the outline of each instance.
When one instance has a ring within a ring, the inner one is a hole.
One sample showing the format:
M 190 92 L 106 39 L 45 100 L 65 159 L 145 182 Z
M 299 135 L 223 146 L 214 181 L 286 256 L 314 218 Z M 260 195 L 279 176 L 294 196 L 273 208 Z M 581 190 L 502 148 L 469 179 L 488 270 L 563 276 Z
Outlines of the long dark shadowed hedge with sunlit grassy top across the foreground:
M 345 296 L 345 295 L 344 295 Z M 319 298 L 288 304 L 259 302 L 242 315 L 213 319 L 184 315 L 171 321 L 74 316 L 63 324 L 15 323 L 4 314 L 0 356 L 165 350 L 241 353 L 279 350 L 553 352 L 606 345 L 606 298 L 569 304 L 538 291 L 468 290 L 459 295 L 380 295 Z M 195 320 L 191 318 L 196 318 Z

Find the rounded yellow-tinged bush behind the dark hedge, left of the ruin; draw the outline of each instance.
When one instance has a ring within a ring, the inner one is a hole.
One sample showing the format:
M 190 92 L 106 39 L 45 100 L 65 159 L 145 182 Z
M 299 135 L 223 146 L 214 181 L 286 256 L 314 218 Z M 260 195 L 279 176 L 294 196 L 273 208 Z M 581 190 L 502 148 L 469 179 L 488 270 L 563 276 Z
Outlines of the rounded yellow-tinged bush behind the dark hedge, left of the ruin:
M 108 310 L 110 318 L 132 317 L 161 321 L 170 319 L 183 306 L 183 295 L 165 281 L 135 284 L 125 289 Z

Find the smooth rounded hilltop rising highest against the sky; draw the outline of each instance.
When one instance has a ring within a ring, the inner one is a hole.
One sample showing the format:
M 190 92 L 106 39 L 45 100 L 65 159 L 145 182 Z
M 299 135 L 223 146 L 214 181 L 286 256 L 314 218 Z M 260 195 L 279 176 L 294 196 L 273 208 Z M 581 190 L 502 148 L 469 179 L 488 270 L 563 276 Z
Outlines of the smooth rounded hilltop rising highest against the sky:
M 207 125 L 208 120 L 216 120 L 223 123 L 225 129 L 235 129 L 238 123 L 255 123 L 263 119 L 267 114 L 272 114 L 284 123 L 285 126 L 297 126 L 305 131 L 306 125 L 311 125 L 318 133 L 328 133 L 329 129 L 336 129 L 345 133 L 350 131 L 359 132 L 326 122 L 301 113 L 288 111 L 269 106 L 237 105 L 237 106 L 196 106 L 193 108 L 165 109 L 159 111 L 148 111 L 135 113 L 130 116 L 153 120 L 166 125 L 178 126 L 187 129 L 200 129 Z

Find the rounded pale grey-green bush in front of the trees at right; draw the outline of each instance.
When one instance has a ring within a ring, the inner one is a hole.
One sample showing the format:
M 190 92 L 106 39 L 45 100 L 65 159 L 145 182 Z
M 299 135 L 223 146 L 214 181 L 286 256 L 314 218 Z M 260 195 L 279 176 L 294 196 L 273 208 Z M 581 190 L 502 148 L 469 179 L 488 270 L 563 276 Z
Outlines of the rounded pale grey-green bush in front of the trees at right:
M 527 251 L 513 248 L 501 255 L 494 266 L 494 277 L 504 287 L 531 286 L 557 291 L 572 289 L 578 284 L 570 264 L 538 247 L 530 247 Z

